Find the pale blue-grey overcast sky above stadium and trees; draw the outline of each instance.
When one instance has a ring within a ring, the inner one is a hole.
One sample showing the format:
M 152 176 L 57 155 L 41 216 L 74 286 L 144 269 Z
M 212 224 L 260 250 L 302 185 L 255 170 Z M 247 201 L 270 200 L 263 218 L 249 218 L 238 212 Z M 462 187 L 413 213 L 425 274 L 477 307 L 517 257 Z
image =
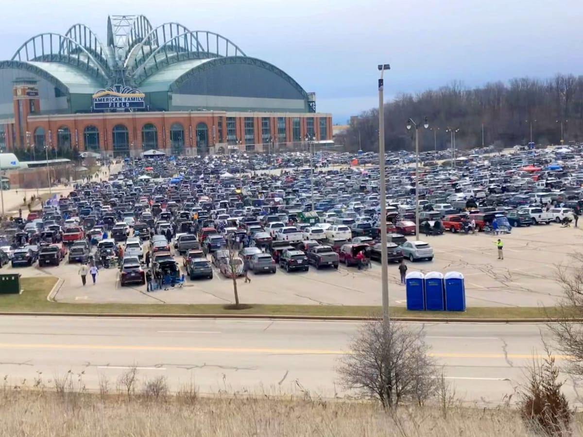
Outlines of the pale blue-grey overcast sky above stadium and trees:
M 108 15 L 154 27 L 179 22 L 229 38 L 317 94 L 318 112 L 344 123 L 387 100 L 452 80 L 466 86 L 583 74 L 581 0 L 2 0 L 2 59 L 37 33 L 85 23 L 106 40 Z

